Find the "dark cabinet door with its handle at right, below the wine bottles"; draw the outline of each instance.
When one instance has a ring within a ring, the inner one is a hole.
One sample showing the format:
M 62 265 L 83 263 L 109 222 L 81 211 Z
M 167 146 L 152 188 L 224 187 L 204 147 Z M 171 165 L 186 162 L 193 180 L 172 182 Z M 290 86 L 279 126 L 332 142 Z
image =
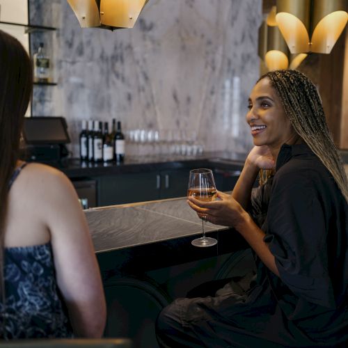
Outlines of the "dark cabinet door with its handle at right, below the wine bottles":
M 98 205 L 143 202 L 159 198 L 156 172 L 106 175 L 99 178 Z

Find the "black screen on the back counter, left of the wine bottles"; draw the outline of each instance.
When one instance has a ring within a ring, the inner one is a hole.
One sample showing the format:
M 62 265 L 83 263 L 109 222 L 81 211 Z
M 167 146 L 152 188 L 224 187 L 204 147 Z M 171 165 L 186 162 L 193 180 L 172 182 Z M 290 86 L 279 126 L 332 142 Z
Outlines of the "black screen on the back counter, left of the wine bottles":
M 24 118 L 23 136 L 27 144 L 70 143 L 63 117 Z

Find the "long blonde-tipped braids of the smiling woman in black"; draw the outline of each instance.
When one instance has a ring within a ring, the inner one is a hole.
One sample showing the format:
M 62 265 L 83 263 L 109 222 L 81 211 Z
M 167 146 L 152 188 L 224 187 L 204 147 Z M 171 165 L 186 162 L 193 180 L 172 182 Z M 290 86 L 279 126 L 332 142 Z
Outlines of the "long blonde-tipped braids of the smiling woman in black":
M 292 127 L 322 161 L 348 201 L 347 175 L 329 127 L 322 100 L 315 84 L 297 70 L 276 70 L 262 75 L 268 77 L 283 104 Z

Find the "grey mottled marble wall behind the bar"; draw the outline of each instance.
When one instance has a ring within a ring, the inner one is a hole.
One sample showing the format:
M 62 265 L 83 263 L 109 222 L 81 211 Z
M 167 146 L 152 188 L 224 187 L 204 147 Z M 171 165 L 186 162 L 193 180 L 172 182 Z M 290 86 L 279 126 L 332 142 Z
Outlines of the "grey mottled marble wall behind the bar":
M 133 29 L 81 29 L 66 0 L 29 0 L 57 86 L 35 86 L 33 116 L 64 116 L 74 157 L 81 120 L 125 130 L 193 129 L 205 150 L 251 148 L 244 116 L 259 75 L 261 0 L 150 0 Z M 126 150 L 127 151 L 127 150 Z

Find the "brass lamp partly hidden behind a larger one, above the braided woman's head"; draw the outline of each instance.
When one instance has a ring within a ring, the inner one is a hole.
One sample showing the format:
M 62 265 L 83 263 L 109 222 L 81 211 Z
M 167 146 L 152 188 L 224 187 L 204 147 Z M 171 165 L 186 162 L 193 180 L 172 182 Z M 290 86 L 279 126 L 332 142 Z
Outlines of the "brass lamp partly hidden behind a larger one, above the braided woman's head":
M 259 29 L 258 54 L 268 70 L 296 69 L 307 54 L 292 55 L 276 24 L 276 6 L 271 8 Z

